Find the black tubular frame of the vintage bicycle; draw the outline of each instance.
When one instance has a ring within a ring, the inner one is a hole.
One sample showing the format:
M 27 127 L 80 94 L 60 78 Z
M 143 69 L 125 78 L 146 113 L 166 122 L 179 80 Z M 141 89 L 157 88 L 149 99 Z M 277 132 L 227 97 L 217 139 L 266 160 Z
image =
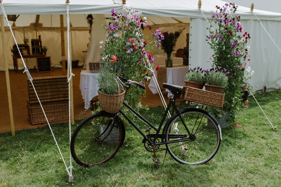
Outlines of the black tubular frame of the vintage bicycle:
M 157 127 L 155 127 L 154 125 L 152 125 L 148 120 L 146 120 L 143 116 L 141 116 L 137 111 L 135 111 L 134 109 L 132 109 L 125 101 L 123 101 L 123 104 L 124 104 L 131 112 L 133 112 L 134 114 L 136 114 L 136 116 L 138 116 L 141 120 L 143 120 L 145 123 L 147 123 L 151 128 L 153 128 L 153 129 L 156 131 L 156 134 L 155 134 L 155 136 L 154 136 L 154 138 L 153 138 L 153 141 L 151 141 L 151 140 L 138 128 L 138 126 L 136 126 L 136 124 L 135 124 L 121 109 L 119 110 L 119 113 L 121 113 L 122 116 L 124 116 L 124 117 L 128 120 L 128 122 L 131 123 L 131 125 L 133 125 L 133 127 L 134 127 L 150 144 L 154 144 L 155 146 L 157 146 L 157 145 L 163 145 L 163 144 L 168 144 L 168 142 L 158 142 L 158 143 L 153 143 L 153 142 L 156 141 L 156 139 L 157 139 L 157 137 L 158 137 L 158 135 L 159 135 L 159 133 L 160 133 L 161 127 L 162 127 L 162 125 L 163 125 L 163 123 L 164 123 L 164 120 L 165 120 L 165 118 L 166 118 L 166 116 L 167 116 L 167 113 L 168 113 L 168 111 L 169 111 L 169 109 L 170 109 L 170 107 L 171 107 L 171 104 L 173 105 L 173 107 L 174 107 L 174 109 L 176 110 L 176 112 L 180 115 L 180 119 L 181 119 L 181 121 L 183 122 L 183 124 L 184 124 L 184 126 L 185 126 L 187 132 L 189 133 L 189 135 L 191 135 L 191 133 L 190 133 L 189 130 L 187 129 L 187 127 L 186 127 L 186 125 L 185 125 L 183 119 L 181 118 L 181 113 L 180 113 L 179 109 L 177 109 L 176 105 L 174 104 L 174 99 L 173 99 L 173 98 L 174 98 L 174 95 L 172 95 L 172 97 L 171 97 L 171 99 L 170 99 L 170 101 L 169 101 L 169 104 L 168 104 L 168 106 L 167 106 L 167 109 L 165 110 L 165 113 L 164 113 L 164 115 L 163 115 L 163 117 L 162 117 L 162 120 L 161 120 L 161 122 L 160 122 L 160 125 L 159 125 L 158 129 L 157 129 Z M 118 115 L 118 113 L 116 113 L 116 115 Z M 190 140 L 190 139 L 187 138 L 186 140 Z M 175 143 L 175 142 L 181 142 L 181 141 L 183 141 L 183 139 L 181 139 L 181 140 L 172 140 L 172 141 L 169 141 L 169 143 Z

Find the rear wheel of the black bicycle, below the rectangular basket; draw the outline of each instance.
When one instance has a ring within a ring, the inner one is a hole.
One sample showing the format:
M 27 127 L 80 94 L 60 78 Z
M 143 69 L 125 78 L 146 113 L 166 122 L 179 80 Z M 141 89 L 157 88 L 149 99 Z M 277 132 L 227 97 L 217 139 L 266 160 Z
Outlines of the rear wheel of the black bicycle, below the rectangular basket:
M 213 158 L 220 147 L 220 130 L 217 121 L 208 112 L 184 109 L 181 116 L 174 115 L 167 121 L 165 141 L 178 141 L 166 144 L 169 154 L 177 162 L 204 164 Z

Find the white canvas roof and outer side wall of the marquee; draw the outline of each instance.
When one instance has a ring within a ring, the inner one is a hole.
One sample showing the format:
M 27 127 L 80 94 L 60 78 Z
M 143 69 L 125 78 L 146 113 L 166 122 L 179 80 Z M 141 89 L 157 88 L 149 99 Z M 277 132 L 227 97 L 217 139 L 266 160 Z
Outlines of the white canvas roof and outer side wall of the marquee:
M 199 65 L 206 68 L 210 67 L 210 64 L 207 63 L 207 59 L 212 55 L 212 51 L 210 51 L 208 44 L 205 42 L 205 34 L 208 34 L 206 32 L 208 23 L 206 22 L 204 15 L 207 18 L 210 18 L 210 11 L 215 11 L 216 5 L 223 6 L 224 4 L 225 2 L 220 0 L 202 0 L 200 10 L 198 9 L 197 0 L 175 0 L 173 3 L 164 0 L 126 1 L 126 5 L 128 7 L 133 6 L 137 11 L 141 11 L 143 16 L 148 16 L 148 18 L 149 16 L 177 18 L 177 20 L 180 18 L 190 18 L 189 64 L 190 67 Z M 4 0 L 3 5 L 8 15 L 66 14 L 66 5 L 64 0 Z M 69 13 L 79 15 L 107 14 L 112 8 L 121 12 L 122 7 L 123 5 L 121 0 L 71 0 Z M 259 20 L 262 21 L 273 40 L 280 46 L 281 39 L 279 37 L 278 30 L 280 30 L 281 27 L 281 14 L 256 9 L 254 9 L 253 12 L 257 15 Z M 281 76 L 279 73 L 281 70 L 280 53 L 273 45 L 273 42 L 269 39 L 265 30 L 259 24 L 253 12 L 250 11 L 250 7 L 239 6 L 237 10 L 237 13 L 241 16 L 241 24 L 244 26 L 244 30 L 249 32 L 252 37 L 249 43 L 251 46 L 249 52 L 251 55 L 251 62 L 249 65 L 252 70 L 255 71 L 255 74 L 249 82 L 253 86 L 254 90 L 262 89 L 264 86 L 267 88 L 281 87 Z M 1 10 L 0 14 L 3 14 Z M 159 17 L 153 17 L 153 19 L 155 24 L 157 24 L 157 20 L 163 22 L 163 19 Z M 174 19 L 165 19 L 164 22 L 169 24 L 169 20 Z M 72 36 L 71 39 L 74 41 L 74 38 L 77 37 L 81 37 L 80 34 Z M 86 42 L 84 41 L 84 43 Z M 59 42 L 54 45 L 59 45 Z M 80 51 L 82 50 L 84 50 L 84 48 Z M 93 51 L 91 51 L 91 53 L 92 52 Z M 50 51 L 50 53 L 52 52 Z M 73 55 L 74 54 L 75 53 L 73 53 Z M 83 60 L 83 57 L 84 56 L 80 55 L 78 58 Z M 72 57 L 72 59 L 74 58 Z M 3 65 L 1 64 L 0 67 L 3 67 Z

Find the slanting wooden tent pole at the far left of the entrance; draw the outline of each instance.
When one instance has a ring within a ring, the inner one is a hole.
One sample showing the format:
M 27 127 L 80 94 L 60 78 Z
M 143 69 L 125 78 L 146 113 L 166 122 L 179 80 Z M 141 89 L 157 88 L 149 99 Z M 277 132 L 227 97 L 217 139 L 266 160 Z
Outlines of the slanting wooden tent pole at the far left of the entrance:
M 9 105 L 9 113 L 10 113 L 10 121 L 11 121 L 11 132 L 12 132 L 13 135 L 15 135 L 15 127 L 14 127 L 14 117 L 13 117 L 13 107 L 12 107 L 10 77 L 9 77 L 9 69 L 8 69 L 8 61 L 7 61 L 7 48 L 6 48 L 6 37 L 5 37 L 3 15 L 0 15 L 0 25 L 1 25 L 3 55 L 4 55 L 4 64 L 5 64 L 6 85 L 7 85 L 7 93 L 8 93 L 8 105 Z

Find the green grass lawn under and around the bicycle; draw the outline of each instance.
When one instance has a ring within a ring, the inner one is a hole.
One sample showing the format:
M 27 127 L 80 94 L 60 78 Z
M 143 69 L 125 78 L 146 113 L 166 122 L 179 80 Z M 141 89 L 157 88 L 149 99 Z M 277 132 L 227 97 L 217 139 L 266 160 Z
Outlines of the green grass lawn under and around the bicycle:
M 281 91 L 257 93 L 255 97 L 273 126 L 281 127 Z M 18 130 L 16 136 L 2 133 L 0 187 L 280 186 L 281 128 L 272 130 L 253 97 L 248 99 L 248 109 L 237 114 L 236 123 L 241 127 L 222 129 L 219 151 L 204 165 L 181 165 L 163 151 L 157 152 L 161 163 L 155 164 L 153 153 L 141 143 L 143 138 L 127 126 L 124 144 L 112 160 L 89 168 L 72 160 L 74 182 L 68 183 L 65 165 L 48 127 Z M 163 107 L 142 111 L 145 118 L 155 123 L 163 113 Z M 79 123 L 75 122 L 72 132 Z M 52 125 L 52 130 L 69 166 L 68 124 Z

